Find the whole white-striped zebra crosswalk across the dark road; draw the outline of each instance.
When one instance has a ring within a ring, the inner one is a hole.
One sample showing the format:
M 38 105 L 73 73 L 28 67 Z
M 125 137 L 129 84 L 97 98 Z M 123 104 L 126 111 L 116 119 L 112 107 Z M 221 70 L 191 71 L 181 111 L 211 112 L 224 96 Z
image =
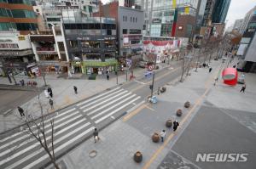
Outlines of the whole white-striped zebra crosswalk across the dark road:
M 140 96 L 121 87 L 81 101 L 44 119 L 45 140 L 42 142 L 46 141 L 52 149 L 50 121 L 54 120 L 54 150 L 56 156 L 61 155 L 90 137 L 95 127 L 113 121 L 140 101 Z M 37 125 L 42 123 L 31 124 L 33 132 L 38 132 Z M 39 168 L 47 163 L 49 155 L 28 128 L 0 139 L 0 168 Z

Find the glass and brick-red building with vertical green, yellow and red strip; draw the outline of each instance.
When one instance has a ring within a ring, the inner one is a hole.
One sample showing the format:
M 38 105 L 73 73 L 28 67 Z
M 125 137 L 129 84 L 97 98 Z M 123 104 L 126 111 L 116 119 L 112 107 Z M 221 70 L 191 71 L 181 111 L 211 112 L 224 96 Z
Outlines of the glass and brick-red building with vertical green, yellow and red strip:
M 146 3 L 144 3 L 145 36 L 172 37 L 172 26 L 175 18 L 177 18 L 177 25 L 174 25 L 176 34 L 173 37 L 189 37 L 191 32 L 195 29 L 197 6 L 197 0 L 147 0 Z M 175 13 L 175 9 L 177 9 L 177 14 Z M 192 18 L 193 24 L 190 22 Z M 178 25 L 179 23 L 182 23 L 183 25 Z M 177 31 L 179 26 L 180 31 Z M 188 31 L 190 32 L 188 33 Z

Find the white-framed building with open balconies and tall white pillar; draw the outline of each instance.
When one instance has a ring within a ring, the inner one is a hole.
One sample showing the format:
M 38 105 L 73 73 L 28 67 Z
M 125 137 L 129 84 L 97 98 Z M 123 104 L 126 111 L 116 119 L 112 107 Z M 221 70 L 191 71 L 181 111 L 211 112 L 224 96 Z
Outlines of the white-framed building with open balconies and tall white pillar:
M 63 29 L 52 26 L 51 31 L 35 31 L 29 35 L 35 59 L 45 73 L 66 73 L 69 67 Z

